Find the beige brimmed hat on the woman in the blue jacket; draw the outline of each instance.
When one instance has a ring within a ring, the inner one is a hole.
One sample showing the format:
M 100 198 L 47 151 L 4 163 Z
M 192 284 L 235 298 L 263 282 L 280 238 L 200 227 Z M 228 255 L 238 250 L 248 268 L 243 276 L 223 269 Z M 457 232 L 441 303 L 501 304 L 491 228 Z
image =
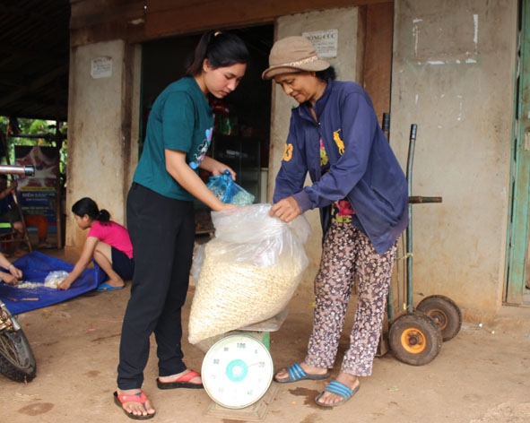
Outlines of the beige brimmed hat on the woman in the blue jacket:
M 318 58 L 311 41 L 300 36 L 286 37 L 274 43 L 269 55 L 269 67 L 261 77 L 268 80 L 281 73 L 318 72 L 329 66 L 326 60 Z

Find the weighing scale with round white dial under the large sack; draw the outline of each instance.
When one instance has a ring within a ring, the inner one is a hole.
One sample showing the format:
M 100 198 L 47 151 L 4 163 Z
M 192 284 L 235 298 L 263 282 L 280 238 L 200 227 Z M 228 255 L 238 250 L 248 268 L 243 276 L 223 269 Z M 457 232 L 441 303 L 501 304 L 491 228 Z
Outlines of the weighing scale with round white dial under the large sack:
M 263 419 L 277 386 L 269 332 L 277 331 L 287 310 L 272 319 L 229 332 L 206 352 L 201 369 L 204 390 L 215 402 L 207 414 L 246 420 Z

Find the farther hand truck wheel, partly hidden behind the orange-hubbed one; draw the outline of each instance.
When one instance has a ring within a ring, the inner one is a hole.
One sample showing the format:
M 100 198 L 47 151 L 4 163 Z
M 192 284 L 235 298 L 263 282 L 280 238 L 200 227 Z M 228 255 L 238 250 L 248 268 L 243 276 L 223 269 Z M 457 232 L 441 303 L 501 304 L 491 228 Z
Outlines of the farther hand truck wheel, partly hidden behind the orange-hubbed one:
M 423 298 L 416 309 L 428 315 L 439 325 L 443 341 L 452 340 L 460 332 L 462 313 L 451 298 L 443 295 Z

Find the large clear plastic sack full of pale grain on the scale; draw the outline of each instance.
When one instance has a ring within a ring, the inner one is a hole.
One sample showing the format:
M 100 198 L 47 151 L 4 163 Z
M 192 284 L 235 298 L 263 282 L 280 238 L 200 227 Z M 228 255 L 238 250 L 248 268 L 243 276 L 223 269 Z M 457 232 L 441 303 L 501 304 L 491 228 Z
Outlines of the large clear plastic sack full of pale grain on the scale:
M 194 258 L 202 263 L 194 263 L 191 343 L 274 317 L 290 301 L 308 265 L 310 226 L 303 216 L 290 223 L 270 217 L 270 208 L 212 212 L 215 237 Z

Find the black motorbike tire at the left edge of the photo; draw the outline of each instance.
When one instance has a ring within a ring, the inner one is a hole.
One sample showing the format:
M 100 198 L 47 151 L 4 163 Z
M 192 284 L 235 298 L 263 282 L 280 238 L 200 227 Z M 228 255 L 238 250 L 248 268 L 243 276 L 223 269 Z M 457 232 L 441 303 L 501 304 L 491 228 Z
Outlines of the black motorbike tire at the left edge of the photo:
M 22 329 L 0 332 L 0 373 L 23 383 L 37 374 L 35 356 Z

